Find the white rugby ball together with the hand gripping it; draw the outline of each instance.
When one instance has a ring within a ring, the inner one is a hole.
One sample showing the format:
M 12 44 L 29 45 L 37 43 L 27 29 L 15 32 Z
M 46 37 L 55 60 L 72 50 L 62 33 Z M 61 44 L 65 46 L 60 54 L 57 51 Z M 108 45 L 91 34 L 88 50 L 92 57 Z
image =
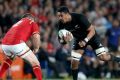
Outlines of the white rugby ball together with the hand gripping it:
M 60 38 L 61 43 L 63 43 L 63 42 L 68 43 L 68 42 L 72 41 L 72 39 L 73 39 L 72 33 L 66 29 L 59 30 L 58 36 Z

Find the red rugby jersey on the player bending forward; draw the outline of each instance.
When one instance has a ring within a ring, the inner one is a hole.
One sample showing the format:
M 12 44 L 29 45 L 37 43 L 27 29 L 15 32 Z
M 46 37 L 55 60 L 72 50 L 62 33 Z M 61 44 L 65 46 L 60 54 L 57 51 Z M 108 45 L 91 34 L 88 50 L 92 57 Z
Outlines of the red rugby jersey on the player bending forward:
M 35 33 L 39 33 L 37 23 L 28 18 L 23 18 L 10 28 L 3 38 L 2 44 L 14 45 L 26 42 Z

